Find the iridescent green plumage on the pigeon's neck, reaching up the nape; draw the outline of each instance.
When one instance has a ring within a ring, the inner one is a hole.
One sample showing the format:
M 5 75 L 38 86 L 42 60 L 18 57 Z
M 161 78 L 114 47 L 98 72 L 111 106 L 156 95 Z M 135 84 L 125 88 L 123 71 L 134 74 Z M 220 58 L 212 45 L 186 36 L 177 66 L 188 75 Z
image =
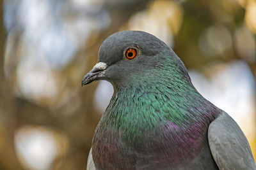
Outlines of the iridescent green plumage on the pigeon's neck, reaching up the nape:
M 158 58 L 164 62 L 158 62 L 159 66 L 147 73 L 134 71 L 127 76 L 130 80 L 125 80 L 125 84 L 114 84 L 115 92 L 101 121 L 111 131 L 124 132 L 127 140 L 167 122 L 185 128 L 214 117 L 212 108 L 215 107 L 193 87 L 182 62 L 171 59 L 170 51 L 161 56 L 162 59 Z

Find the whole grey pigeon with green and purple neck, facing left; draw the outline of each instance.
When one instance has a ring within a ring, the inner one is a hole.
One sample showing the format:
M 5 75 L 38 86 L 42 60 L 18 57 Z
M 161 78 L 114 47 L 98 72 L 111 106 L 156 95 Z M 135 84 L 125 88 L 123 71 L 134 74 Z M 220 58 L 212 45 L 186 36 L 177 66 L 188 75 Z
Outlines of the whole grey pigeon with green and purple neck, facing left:
M 236 122 L 195 89 L 172 48 L 143 31 L 116 32 L 82 86 L 114 93 L 97 125 L 87 169 L 256 169 Z

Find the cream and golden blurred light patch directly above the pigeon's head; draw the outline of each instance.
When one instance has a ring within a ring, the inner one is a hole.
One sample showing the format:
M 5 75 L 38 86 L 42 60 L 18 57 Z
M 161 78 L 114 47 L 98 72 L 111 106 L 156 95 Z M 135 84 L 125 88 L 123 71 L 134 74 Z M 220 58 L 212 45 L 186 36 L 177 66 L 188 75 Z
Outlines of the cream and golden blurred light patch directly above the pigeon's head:
M 182 6 L 173 1 L 154 1 L 147 10 L 134 14 L 125 30 L 139 30 L 154 34 L 173 46 L 173 36 L 182 24 Z

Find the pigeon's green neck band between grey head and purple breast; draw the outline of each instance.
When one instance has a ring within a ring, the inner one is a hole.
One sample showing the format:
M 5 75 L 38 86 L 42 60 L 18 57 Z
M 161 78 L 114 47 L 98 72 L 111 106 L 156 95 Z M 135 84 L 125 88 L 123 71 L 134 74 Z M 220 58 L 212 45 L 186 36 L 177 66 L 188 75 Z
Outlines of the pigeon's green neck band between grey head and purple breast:
M 212 110 L 215 111 L 214 105 L 190 85 L 184 87 L 182 83 L 164 85 L 152 82 L 136 87 L 115 89 L 104 114 L 120 124 L 125 122 L 154 126 L 161 122 L 172 121 L 177 125 L 188 125 L 187 121 L 191 120 L 191 117 L 195 119 L 212 117 L 214 115 Z

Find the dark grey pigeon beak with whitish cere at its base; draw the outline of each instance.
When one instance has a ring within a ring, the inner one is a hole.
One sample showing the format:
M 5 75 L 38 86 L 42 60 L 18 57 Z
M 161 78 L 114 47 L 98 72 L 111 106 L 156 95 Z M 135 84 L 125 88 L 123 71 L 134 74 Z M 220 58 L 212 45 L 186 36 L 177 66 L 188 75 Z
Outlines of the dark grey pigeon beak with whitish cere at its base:
M 87 73 L 82 80 L 83 85 L 87 85 L 92 83 L 92 81 L 99 80 L 100 78 L 104 78 L 104 70 L 108 68 L 108 65 L 105 62 L 98 62 L 92 70 Z

